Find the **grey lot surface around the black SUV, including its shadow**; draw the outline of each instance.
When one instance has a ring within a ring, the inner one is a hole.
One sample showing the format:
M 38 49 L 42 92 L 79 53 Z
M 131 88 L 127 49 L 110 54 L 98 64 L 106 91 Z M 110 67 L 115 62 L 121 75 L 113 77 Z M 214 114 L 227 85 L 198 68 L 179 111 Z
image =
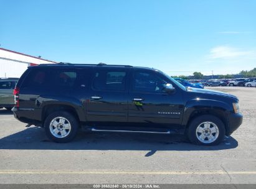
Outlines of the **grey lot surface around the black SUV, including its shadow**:
M 83 132 L 55 144 L 0 109 L 0 183 L 256 183 L 256 88 L 211 89 L 238 96 L 244 114 L 213 147 L 184 136 Z

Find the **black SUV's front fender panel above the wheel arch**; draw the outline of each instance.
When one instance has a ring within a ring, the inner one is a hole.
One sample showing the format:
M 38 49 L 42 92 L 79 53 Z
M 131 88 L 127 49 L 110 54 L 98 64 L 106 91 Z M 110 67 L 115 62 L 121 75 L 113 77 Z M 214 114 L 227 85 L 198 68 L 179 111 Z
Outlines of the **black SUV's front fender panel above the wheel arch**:
M 187 101 L 184 108 L 184 116 L 182 121 L 183 126 L 187 125 L 191 114 L 197 110 L 218 111 L 227 115 L 231 113 L 232 107 L 223 101 L 217 101 L 214 99 L 191 99 L 190 101 Z

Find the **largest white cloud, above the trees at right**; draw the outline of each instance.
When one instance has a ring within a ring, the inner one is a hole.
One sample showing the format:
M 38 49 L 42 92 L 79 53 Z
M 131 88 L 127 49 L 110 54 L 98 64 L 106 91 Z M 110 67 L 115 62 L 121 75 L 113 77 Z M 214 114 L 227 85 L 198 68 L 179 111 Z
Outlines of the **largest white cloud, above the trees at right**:
M 244 56 L 253 55 L 253 54 L 254 54 L 254 51 L 244 51 L 238 48 L 223 45 L 223 46 L 212 48 L 210 50 L 209 58 L 231 59 L 231 58 L 244 57 Z

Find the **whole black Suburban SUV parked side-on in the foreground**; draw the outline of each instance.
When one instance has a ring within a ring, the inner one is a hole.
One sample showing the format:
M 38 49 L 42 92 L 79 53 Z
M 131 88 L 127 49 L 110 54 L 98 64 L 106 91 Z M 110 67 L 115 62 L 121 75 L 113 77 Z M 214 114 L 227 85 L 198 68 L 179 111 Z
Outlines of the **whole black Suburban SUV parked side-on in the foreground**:
M 29 67 L 14 90 L 19 121 L 45 128 L 55 142 L 87 131 L 187 134 L 219 144 L 240 124 L 232 94 L 184 87 L 162 71 L 125 65 L 59 63 Z

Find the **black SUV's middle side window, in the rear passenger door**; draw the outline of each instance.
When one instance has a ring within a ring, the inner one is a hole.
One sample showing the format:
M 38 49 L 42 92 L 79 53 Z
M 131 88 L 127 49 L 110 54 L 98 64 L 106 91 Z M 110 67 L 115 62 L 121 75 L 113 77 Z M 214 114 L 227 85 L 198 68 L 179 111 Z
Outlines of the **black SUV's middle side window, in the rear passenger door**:
M 96 90 L 125 91 L 125 71 L 100 70 L 95 72 L 92 79 Z

